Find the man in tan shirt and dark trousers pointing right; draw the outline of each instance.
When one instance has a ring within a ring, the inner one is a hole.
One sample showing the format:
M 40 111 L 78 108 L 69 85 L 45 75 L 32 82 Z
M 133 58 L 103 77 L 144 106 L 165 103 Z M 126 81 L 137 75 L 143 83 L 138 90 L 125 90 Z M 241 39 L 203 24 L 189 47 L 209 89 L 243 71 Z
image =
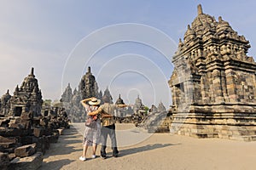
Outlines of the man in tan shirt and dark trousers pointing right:
M 108 135 L 111 139 L 111 147 L 113 150 L 113 156 L 117 157 L 119 155 L 119 150 L 117 148 L 116 135 L 115 135 L 115 121 L 114 121 L 114 111 L 118 109 L 118 107 L 126 107 L 127 105 L 113 105 L 110 104 L 110 100 L 108 97 L 103 96 L 102 98 L 104 104 L 100 106 L 96 113 L 102 114 L 102 131 L 101 131 L 101 139 L 102 139 L 102 150 L 101 156 L 102 158 L 107 157 L 106 148 L 107 148 L 107 139 Z

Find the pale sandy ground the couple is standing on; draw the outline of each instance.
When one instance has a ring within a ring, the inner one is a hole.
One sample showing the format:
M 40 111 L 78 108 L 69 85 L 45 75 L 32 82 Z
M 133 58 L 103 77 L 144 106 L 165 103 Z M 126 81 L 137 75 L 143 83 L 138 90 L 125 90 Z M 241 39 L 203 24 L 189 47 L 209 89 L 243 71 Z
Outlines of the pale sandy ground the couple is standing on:
M 118 158 L 111 156 L 108 147 L 106 160 L 97 157 L 79 161 L 82 153 L 79 131 L 83 132 L 83 124 L 74 124 L 65 130 L 58 143 L 51 144 L 39 169 L 256 169 L 256 142 L 193 139 L 168 133 L 152 135 L 131 124 L 117 125 L 117 129 Z

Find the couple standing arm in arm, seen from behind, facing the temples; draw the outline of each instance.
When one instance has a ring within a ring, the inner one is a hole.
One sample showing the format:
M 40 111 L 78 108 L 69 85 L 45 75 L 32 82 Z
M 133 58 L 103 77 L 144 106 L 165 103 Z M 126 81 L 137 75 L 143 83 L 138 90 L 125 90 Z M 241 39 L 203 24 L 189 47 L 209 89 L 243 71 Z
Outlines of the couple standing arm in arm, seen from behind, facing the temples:
M 115 121 L 113 118 L 114 110 L 118 107 L 125 107 L 126 105 L 113 105 L 110 104 L 108 97 L 103 96 L 102 98 L 104 104 L 100 105 L 101 100 L 96 98 L 83 99 L 81 104 L 84 106 L 87 116 L 91 116 L 95 120 L 95 126 L 87 127 L 84 129 L 84 150 L 83 156 L 79 157 L 79 160 L 86 160 L 86 152 L 88 146 L 92 145 L 92 156 L 91 158 L 96 158 L 96 148 L 97 144 L 102 143 L 101 156 L 102 158 L 107 157 L 107 139 L 108 135 L 111 139 L 113 156 L 117 157 L 119 150 L 117 148 L 116 135 L 115 135 Z M 87 104 L 88 102 L 88 104 Z M 102 126 L 101 126 L 102 122 Z

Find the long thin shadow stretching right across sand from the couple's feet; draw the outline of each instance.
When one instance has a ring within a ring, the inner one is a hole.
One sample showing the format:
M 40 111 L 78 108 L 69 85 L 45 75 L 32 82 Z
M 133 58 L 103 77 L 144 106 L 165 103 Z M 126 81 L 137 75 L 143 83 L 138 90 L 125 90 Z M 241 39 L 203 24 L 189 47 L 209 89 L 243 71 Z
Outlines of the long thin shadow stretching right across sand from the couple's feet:
M 131 154 L 136 154 L 138 152 L 148 151 L 148 150 L 156 150 L 160 148 L 165 148 L 169 146 L 173 146 L 177 144 L 147 144 L 145 146 L 137 147 L 137 148 L 129 148 L 125 150 L 119 150 L 119 157 L 128 156 Z M 111 153 L 110 153 L 111 154 Z

